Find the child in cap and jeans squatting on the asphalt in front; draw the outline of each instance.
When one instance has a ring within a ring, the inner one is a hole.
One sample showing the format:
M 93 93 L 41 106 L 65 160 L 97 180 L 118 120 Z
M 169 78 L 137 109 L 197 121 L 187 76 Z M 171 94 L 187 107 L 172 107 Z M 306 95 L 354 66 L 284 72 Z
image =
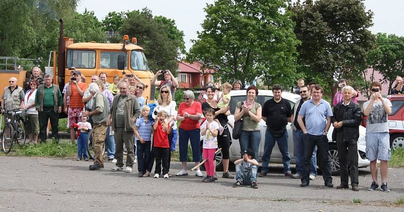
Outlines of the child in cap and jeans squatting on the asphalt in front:
M 236 180 L 233 187 L 242 187 L 250 185 L 251 188 L 258 188 L 257 171 L 258 162 L 254 159 L 254 151 L 251 149 L 245 150 L 241 159 L 234 161 L 236 165 Z

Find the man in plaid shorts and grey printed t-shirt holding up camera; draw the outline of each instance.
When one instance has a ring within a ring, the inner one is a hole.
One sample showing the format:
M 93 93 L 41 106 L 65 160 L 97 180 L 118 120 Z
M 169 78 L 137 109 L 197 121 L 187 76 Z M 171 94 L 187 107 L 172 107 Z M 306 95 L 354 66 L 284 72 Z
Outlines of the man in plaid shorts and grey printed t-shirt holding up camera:
M 390 160 L 390 135 L 387 115 L 391 113 L 391 102 L 382 98 L 379 82 L 370 84 L 370 100 L 363 104 L 363 113 L 368 116 L 366 123 L 366 157 L 370 161 L 370 173 L 373 182 L 368 191 L 379 187 L 377 184 L 377 160 L 380 160 L 380 190 L 389 192 L 387 188 L 388 161 Z

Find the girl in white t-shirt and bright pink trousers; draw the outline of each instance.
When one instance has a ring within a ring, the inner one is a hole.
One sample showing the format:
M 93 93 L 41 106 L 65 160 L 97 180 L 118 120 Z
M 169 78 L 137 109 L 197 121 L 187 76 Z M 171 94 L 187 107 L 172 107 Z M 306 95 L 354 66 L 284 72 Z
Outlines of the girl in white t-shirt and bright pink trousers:
M 204 158 L 208 159 L 205 162 L 206 177 L 202 182 L 215 182 L 215 152 L 218 148 L 218 132 L 219 124 L 214 121 L 215 110 L 208 108 L 205 113 L 206 121 L 200 126 L 200 134 L 204 136 L 203 154 Z

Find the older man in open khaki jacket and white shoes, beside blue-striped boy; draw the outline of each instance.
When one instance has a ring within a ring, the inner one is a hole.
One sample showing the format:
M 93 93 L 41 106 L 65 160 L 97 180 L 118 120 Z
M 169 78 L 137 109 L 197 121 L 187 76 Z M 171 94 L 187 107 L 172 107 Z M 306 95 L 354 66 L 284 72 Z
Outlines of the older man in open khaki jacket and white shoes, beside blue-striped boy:
M 107 124 L 112 126 L 115 131 L 115 158 L 116 166 L 111 171 L 122 171 L 123 169 L 123 145 L 125 144 L 128 152 L 126 156 L 125 172 L 132 172 L 134 164 L 133 124 L 140 114 L 139 103 L 137 98 L 129 94 L 129 85 L 126 82 L 119 84 L 120 94 L 114 97 L 114 101 L 110 107 Z

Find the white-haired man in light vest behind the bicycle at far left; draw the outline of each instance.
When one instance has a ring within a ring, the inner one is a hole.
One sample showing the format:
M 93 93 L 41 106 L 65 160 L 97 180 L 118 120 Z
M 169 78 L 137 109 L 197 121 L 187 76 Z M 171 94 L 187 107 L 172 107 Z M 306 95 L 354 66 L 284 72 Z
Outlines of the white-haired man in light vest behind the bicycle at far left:
M 22 87 L 17 85 L 17 78 L 9 79 L 9 87 L 4 88 L 4 93 L 2 96 L 4 108 L 6 110 L 15 110 L 18 108 L 24 109 L 24 90 Z

